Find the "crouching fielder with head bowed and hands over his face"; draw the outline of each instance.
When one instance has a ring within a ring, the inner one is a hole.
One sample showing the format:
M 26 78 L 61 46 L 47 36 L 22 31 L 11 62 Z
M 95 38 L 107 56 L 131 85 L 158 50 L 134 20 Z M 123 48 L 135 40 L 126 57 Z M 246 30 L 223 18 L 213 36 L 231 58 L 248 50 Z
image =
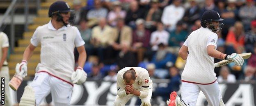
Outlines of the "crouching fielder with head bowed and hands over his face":
M 134 96 L 141 99 L 140 106 L 151 106 L 153 82 L 146 69 L 141 67 L 125 67 L 117 73 L 117 97 L 114 106 L 125 106 Z

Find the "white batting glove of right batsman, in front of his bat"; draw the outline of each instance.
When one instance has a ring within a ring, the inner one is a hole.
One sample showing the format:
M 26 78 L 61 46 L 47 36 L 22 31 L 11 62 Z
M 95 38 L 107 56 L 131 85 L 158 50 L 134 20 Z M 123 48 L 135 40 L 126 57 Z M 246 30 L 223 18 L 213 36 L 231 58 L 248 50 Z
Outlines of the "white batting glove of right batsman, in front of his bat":
M 228 55 L 227 60 L 235 62 L 235 65 L 237 66 L 242 66 L 245 62 L 244 59 L 237 53 L 232 53 L 231 55 Z

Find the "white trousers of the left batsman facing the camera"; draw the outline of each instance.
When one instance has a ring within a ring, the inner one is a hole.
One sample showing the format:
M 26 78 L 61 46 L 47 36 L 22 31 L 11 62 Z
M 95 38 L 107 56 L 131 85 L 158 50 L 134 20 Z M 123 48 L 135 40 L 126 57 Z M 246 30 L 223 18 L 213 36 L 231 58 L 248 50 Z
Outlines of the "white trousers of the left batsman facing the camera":
M 34 89 L 37 106 L 49 93 L 52 95 L 54 106 L 70 105 L 73 86 L 61 79 L 45 72 L 36 73 L 30 86 Z

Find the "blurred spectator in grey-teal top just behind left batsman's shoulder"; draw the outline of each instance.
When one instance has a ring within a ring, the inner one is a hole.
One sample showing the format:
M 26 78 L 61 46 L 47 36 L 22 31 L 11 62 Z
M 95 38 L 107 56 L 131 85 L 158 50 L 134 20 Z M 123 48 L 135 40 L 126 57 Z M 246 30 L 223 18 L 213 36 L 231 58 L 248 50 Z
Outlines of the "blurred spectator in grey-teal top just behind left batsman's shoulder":
M 89 55 L 92 55 L 92 52 L 93 52 L 92 50 L 93 46 L 90 43 L 91 29 L 88 28 L 86 20 L 80 20 L 79 25 L 80 25 L 79 31 L 81 33 L 81 37 L 85 41 L 86 54 L 87 54 L 87 57 L 89 57 Z

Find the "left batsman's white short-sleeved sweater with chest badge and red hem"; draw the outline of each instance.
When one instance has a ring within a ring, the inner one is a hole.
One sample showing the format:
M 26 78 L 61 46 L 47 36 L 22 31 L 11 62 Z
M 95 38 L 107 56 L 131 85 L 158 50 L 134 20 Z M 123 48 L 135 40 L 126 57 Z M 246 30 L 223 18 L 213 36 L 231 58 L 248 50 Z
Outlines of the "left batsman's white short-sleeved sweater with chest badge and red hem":
M 57 30 L 50 20 L 37 27 L 30 42 L 34 46 L 41 43 L 41 62 L 36 72 L 45 71 L 70 83 L 75 66 L 74 48 L 85 44 L 78 28 L 67 25 Z

